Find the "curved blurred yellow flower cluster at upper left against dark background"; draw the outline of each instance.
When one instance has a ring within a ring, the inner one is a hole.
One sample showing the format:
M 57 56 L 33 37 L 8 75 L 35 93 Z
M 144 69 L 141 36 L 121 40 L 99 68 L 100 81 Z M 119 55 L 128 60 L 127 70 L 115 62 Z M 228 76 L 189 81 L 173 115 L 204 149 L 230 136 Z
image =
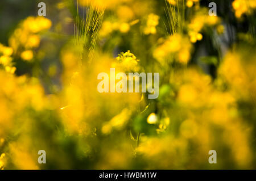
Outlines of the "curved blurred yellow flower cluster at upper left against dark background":
M 33 48 L 38 48 L 40 44 L 39 33 L 51 27 L 51 20 L 43 16 L 28 17 L 14 31 L 9 39 L 10 47 L 15 54 L 20 54 L 23 60 L 30 61 L 34 57 Z

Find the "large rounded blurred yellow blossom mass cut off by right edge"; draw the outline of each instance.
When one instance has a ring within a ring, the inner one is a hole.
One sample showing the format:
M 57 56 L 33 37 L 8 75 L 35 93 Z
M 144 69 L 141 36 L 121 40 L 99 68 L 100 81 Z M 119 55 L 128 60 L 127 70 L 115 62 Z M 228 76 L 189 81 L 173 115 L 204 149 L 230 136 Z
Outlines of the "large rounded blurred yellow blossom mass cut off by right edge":
M 255 53 L 246 54 L 244 48 L 236 48 L 226 54 L 220 66 L 220 77 L 228 82 L 233 95 L 238 98 L 247 100 L 256 97 L 255 57 Z

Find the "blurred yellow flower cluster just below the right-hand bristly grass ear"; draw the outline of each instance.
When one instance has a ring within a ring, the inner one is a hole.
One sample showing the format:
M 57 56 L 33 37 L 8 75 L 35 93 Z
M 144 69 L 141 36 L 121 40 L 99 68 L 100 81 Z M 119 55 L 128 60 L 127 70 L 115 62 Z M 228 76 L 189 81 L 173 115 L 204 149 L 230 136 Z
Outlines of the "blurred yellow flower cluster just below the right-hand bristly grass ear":
M 175 58 L 177 62 L 187 64 L 191 57 L 191 50 L 192 44 L 188 37 L 176 33 L 168 37 L 162 45 L 157 47 L 153 55 L 162 65 L 167 63 L 165 61 L 166 58 L 170 59 L 168 62 Z

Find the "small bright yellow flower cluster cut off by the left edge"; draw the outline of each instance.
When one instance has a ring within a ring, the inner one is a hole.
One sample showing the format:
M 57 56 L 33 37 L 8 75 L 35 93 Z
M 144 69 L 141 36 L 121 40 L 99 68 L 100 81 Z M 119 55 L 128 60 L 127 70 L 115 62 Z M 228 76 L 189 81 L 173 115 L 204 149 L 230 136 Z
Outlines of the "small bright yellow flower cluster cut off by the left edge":
M 12 54 L 13 54 L 13 48 L 5 47 L 0 43 L 0 65 L 2 65 L 7 72 L 13 74 L 16 68 L 12 64 L 12 61 L 13 61 L 13 58 L 11 57 Z

